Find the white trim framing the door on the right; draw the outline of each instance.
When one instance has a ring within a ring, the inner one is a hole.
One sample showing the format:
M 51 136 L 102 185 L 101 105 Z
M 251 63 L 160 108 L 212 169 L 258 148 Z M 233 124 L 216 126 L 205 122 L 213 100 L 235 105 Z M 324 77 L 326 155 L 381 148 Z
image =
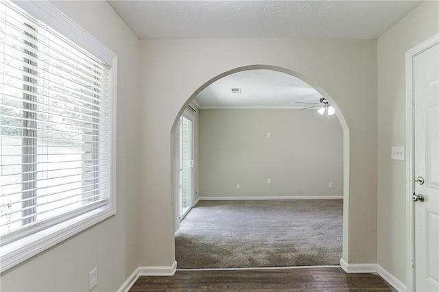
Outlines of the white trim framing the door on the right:
M 412 201 L 413 173 L 413 58 L 439 42 L 439 34 L 421 42 L 405 53 L 405 110 L 406 110 L 406 212 L 407 212 L 407 291 L 415 291 L 414 284 L 414 205 Z

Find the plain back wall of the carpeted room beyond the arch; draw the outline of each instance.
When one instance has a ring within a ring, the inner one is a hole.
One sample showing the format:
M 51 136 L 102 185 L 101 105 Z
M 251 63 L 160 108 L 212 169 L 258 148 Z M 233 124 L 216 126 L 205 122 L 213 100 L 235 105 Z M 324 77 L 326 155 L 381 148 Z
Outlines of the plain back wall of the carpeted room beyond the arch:
M 200 195 L 342 196 L 337 117 L 328 124 L 317 110 L 200 110 Z

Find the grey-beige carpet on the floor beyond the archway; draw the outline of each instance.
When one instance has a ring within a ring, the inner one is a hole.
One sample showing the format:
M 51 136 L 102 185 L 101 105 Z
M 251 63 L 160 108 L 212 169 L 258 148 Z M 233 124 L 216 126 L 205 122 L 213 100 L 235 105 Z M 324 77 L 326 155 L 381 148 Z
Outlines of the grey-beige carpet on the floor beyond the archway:
M 340 265 L 342 199 L 200 201 L 176 232 L 178 268 Z

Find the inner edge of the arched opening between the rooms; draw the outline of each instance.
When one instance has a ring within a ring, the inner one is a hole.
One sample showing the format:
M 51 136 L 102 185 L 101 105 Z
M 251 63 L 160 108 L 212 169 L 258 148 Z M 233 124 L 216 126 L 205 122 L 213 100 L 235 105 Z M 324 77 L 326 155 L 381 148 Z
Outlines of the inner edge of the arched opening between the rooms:
M 315 82 L 313 82 L 312 80 L 309 80 L 307 77 L 305 77 L 304 75 L 301 75 L 300 73 L 297 73 L 295 71 L 291 71 L 289 69 L 285 69 L 282 67 L 278 67 L 278 66 L 268 66 L 268 65 L 252 65 L 252 66 L 243 66 L 243 67 L 239 67 L 239 68 L 235 68 L 232 69 L 230 71 L 226 71 L 222 74 L 219 74 L 215 77 L 213 77 L 211 80 L 209 80 L 208 82 L 204 83 L 202 86 L 200 86 L 200 88 L 198 88 L 198 90 L 195 90 L 195 92 L 193 93 L 193 95 L 191 95 L 191 97 L 189 97 L 189 99 L 187 100 L 186 104 L 184 106 L 182 106 L 178 116 L 176 117 L 176 121 L 174 121 L 174 125 L 172 127 L 171 130 L 171 136 L 174 136 L 177 124 L 178 124 L 178 119 L 180 118 L 180 115 L 182 114 L 182 112 L 185 110 L 185 108 L 187 108 L 187 105 L 189 105 L 189 103 L 191 102 L 192 99 L 195 98 L 195 96 L 197 96 L 202 90 L 204 90 L 204 88 L 206 88 L 207 86 L 209 86 L 210 84 L 212 84 L 213 82 L 226 77 L 228 75 L 231 75 L 233 73 L 238 73 L 241 71 L 250 71 L 250 70 L 272 70 L 272 71 L 278 71 L 281 73 L 285 73 L 287 75 L 292 75 L 294 77 L 297 77 L 298 79 L 306 82 L 307 84 L 309 84 L 310 86 L 312 86 L 313 88 L 315 88 L 318 93 L 320 93 L 320 95 L 324 96 L 329 103 L 335 108 L 335 112 L 337 114 L 337 118 L 340 121 L 340 125 L 342 126 L 343 129 L 343 144 L 344 144 L 344 150 L 343 150 L 343 161 L 344 161 L 344 167 L 343 167 L 343 180 L 344 180 L 344 188 L 343 188 L 343 197 L 344 197 L 344 205 L 343 205 L 343 218 L 344 218 L 344 222 L 343 222 L 343 256 L 342 258 L 347 258 L 347 252 L 348 252 L 348 182 L 349 182 L 349 167 L 348 167 L 348 158 L 349 158 L 349 148 L 348 148 L 348 141 L 349 141 L 349 130 L 348 130 L 348 126 L 346 124 L 346 121 L 343 117 L 342 112 L 340 112 L 340 109 L 337 107 L 337 104 L 335 103 L 334 99 L 329 96 L 329 94 L 323 89 L 321 88 L 318 84 L 316 84 Z M 171 145 L 174 145 L 174 141 L 171 141 Z M 176 170 L 176 157 L 172 157 L 171 158 L 171 166 L 172 169 Z M 176 191 L 178 191 L 178 183 L 176 182 L 176 176 L 174 175 L 173 180 L 172 180 L 172 191 L 173 193 L 176 193 Z M 175 205 L 174 205 L 175 206 Z M 175 206 L 175 208 L 178 208 L 178 206 Z M 174 214 L 176 214 L 176 212 L 174 212 Z M 174 219 L 174 223 L 177 229 L 178 228 L 178 217 L 176 217 Z

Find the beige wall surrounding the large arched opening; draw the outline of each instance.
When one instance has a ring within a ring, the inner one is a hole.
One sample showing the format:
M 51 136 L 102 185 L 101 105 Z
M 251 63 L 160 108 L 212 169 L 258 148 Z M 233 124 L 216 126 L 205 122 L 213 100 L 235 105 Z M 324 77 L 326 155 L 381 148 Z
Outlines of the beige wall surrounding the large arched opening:
M 349 127 L 344 204 L 349 263 L 376 263 L 377 43 L 375 40 L 141 40 L 140 264 L 174 261 L 171 128 L 205 82 L 239 66 L 266 64 L 304 75 Z M 327 97 L 327 96 L 325 96 Z M 335 101 L 336 103 L 334 103 Z

